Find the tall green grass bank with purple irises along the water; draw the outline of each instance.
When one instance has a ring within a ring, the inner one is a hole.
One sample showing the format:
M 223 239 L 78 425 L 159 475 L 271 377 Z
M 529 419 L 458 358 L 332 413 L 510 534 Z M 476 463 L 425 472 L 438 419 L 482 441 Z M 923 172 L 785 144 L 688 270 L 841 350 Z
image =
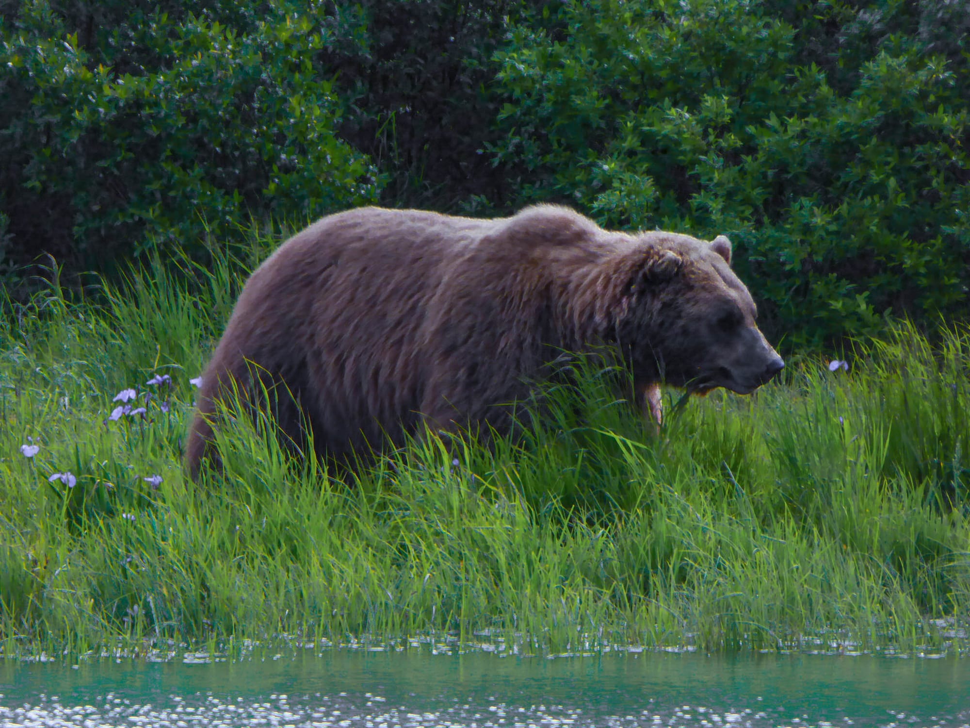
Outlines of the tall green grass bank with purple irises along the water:
M 755 397 L 686 402 L 660 438 L 586 372 L 519 445 L 432 441 L 351 484 L 241 425 L 225 480 L 196 487 L 190 380 L 241 271 L 5 303 L 3 653 L 483 630 L 557 652 L 967 645 L 966 329 L 933 349 L 899 329 L 849 371 L 820 352 Z

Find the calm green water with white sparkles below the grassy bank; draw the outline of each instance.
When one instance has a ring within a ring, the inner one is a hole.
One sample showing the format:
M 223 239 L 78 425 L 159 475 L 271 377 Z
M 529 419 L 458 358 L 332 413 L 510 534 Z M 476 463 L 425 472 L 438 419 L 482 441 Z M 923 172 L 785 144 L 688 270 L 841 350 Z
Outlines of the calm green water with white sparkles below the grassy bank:
M 361 651 L 0 664 L 0 724 L 970 726 L 970 661 Z

